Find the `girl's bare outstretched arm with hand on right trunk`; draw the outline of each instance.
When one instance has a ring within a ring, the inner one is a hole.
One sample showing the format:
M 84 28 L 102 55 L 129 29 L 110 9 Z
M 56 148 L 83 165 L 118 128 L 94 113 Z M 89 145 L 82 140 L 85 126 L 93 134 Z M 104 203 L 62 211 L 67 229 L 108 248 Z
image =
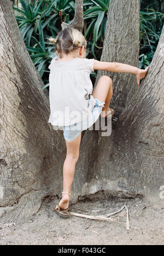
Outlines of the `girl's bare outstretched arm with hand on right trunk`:
M 146 69 L 139 69 L 137 67 L 133 67 L 123 63 L 95 60 L 93 69 L 134 74 L 136 75 L 137 84 L 139 85 L 140 79 L 145 78 L 145 76 L 147 75 L 149 67 L 147 67 Z

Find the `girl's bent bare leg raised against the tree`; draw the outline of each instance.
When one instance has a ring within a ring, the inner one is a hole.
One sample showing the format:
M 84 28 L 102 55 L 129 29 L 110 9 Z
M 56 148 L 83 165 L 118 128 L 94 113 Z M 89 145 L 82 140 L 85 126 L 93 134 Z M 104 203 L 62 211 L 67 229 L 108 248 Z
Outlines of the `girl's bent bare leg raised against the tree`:
M 106 117 L 110 113 L 109 105 L 113 96 L 112 79 L 107 75 L 99 78 L 95 89 L 92 91 L 93 98 L 98 98 L 101 102 L 105 102 L 102 108 L 101 117 Z

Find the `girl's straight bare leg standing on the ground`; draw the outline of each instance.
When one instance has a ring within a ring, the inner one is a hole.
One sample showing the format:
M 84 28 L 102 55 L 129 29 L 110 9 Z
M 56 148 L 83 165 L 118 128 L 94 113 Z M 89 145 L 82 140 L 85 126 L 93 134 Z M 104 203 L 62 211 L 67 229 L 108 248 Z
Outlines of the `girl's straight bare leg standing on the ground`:
M 63 191 L 70 194 L 74 179 L 75 165 L 79 159 L 80 142 L 81 132 L 77 138 L 73 139 L 73 141 L 66 141 L 67 155 L 63 164 Z M 62 194 L 62 199 L 59 203 L 59 206 L 62 209 L 67 209 L 69 205 L 69 200 L 70 196 L 68 194 Z

